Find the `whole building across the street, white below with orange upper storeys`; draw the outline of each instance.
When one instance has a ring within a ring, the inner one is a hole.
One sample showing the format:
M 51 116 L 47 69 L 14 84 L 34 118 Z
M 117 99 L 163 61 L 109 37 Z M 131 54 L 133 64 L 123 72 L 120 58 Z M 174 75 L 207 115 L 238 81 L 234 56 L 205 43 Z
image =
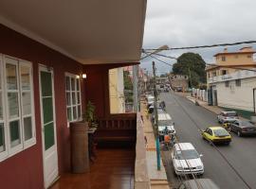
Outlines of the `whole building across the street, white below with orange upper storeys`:
M 256 62 L 251 47 L 239 52 L 215 55 L 216 65 L 208 67 L 208 96 L 211 105 L 255 112 Z

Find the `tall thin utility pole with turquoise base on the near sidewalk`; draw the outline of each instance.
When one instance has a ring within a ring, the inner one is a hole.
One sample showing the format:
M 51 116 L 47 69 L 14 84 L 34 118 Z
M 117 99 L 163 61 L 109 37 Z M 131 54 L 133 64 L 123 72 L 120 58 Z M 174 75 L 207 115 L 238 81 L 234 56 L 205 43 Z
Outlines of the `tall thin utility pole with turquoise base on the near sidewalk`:
M 155 146 L 156 146 L 156 161 L 157 161 L 157 170 L 161 169 L 160 164 L 160 144 L 159 144 L 159 134 L 158 134 L 158 113 L 157 113 L 157 90 L 156 90 L 156 81 L 155 81 L 155 61 L 152 61 L 153 66 L 153 79 L 154 79 L 154 111 L 155 111 Z

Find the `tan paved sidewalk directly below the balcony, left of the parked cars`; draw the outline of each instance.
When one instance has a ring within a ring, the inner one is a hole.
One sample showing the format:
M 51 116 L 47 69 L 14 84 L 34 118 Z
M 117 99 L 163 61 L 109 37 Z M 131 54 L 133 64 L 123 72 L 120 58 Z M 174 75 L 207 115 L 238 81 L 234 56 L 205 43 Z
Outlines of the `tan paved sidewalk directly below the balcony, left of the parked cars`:
M 152 127 L 150 118 L 147 119 L 145 115 L 146 105 L 141 103 L 141 115 L 144 120 L 144 136 L 147 138 L 147 148 L 146 148 L 146 159 L 149 178 L 151 181 L 152 189 L 170 189 L 169 182 L 167 180 L 165 167 L 161 160 L 161 169 L 157 171 L 156 168 L 156 147 L 155 147 L 155 135 Z

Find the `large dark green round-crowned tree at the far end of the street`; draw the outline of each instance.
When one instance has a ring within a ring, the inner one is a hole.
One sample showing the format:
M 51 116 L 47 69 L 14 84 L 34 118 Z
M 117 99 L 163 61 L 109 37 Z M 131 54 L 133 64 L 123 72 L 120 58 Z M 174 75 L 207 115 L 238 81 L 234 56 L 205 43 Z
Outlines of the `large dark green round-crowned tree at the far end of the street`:
M 198 86 L 200 83 L 206 83 L 205 68 L 206 62 L 199 54 L 184 53 L 174 63 L 173 73 L 188 76 L 189 81 L 192 80 L 192 86 Z M 191 86 L 190 82 L 189 85 Z

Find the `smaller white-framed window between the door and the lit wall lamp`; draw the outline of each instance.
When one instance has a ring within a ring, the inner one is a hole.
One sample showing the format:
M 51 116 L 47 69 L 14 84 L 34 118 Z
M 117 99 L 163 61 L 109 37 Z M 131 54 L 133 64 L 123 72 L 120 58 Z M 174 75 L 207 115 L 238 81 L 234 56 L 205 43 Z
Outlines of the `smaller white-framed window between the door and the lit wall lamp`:
M 66 114 L 69 122 L 82 119 L 80 77 L 65 74 Z

